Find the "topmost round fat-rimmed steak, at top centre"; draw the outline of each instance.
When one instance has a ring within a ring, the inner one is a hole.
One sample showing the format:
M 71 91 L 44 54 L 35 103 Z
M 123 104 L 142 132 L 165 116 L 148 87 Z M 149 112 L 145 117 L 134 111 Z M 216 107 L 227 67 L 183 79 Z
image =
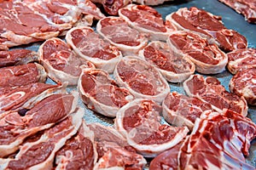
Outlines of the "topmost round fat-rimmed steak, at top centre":
M 170 32 L 177 31 L 171 22 L 165 22 L 161 15 L 146 5 L 130 4 L 119 9 L 119 16 L 137 31 L 148 33 L 150 40 L 166 41 Z

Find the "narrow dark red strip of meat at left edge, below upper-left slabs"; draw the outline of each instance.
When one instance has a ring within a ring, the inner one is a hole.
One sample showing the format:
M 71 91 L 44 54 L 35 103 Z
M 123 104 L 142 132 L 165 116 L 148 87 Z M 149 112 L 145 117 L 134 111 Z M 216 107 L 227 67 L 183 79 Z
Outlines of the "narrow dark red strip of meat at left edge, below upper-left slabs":
M 38 53 L 28 49 L 14 49 L 11 51 L 0 51 L 0 67 L 25 65 L 32 61 L 38 61 Z

